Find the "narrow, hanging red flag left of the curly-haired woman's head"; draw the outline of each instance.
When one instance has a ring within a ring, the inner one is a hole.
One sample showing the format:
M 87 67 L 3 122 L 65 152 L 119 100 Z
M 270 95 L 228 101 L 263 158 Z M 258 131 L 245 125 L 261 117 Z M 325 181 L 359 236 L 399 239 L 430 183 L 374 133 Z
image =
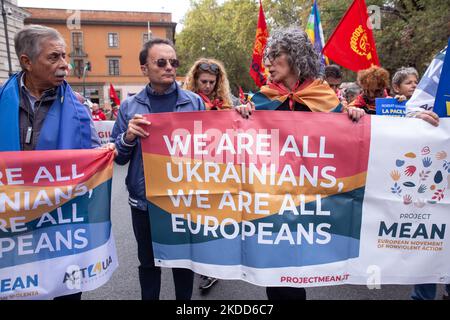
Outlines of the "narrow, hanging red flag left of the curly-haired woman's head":
M 267 75 L 263 63 L 263 55 L 268 37 L 269 31 L 267 30 L 266 18 L 264 17 L 264 10 L 260 0 L 258 27 L 256 29 L 255 44 L 253 46 L 252 64 L 250 66 L 250 76 L 253 78 L 253 80 L 255 80 L 255 84 L 258 87 L 265 85 L 267 82 Z

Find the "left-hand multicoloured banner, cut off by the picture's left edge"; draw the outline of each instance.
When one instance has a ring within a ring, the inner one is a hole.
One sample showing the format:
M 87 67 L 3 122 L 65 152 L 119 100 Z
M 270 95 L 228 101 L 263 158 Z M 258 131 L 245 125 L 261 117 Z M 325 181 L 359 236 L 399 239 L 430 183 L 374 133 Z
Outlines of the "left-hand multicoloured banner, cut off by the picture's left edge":
M 113 152 L 0 152 L 0 299 L 96 289 L 117 268 Z

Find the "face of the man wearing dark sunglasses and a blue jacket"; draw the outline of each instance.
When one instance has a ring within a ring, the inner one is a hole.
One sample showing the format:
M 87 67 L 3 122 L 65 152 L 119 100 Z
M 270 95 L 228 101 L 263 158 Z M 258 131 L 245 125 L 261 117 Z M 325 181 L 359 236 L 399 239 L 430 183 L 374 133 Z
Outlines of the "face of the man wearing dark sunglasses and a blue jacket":
M 141 68 L 152 85 L 170 86 L 175 82 L 177 68 L 169 60 L 176 58 L 177 54 L 171 46 L 156 44 L 148 50 L 147 63 Z M 160 62 L 165 60 L 165 65 L 158 65 L 158 60 Z

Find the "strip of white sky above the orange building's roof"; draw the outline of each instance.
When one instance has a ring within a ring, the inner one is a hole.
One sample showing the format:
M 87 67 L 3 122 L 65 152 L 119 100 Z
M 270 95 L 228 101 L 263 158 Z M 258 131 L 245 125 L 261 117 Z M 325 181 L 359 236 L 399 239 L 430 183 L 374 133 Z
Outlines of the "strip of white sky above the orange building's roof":
M 18 5 L 55 9 L 171 12 L 172 21 L 179 24 L 177 31 L 180 31 L 182 18 L 189 8 L 189 0 L 18 0 Z

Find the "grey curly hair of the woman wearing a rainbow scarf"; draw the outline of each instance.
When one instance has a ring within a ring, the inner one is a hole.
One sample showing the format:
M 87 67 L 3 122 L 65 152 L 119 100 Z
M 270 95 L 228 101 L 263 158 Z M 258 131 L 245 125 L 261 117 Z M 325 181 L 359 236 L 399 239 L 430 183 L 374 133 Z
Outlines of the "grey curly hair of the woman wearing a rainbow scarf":
M 320 60 L 308 35 L 300 27 L 289 27 L 274 30 L 267 40 L 264 59 L 273 59 L 286 54 L 291 66 L 300 81 L 319 77 Z

